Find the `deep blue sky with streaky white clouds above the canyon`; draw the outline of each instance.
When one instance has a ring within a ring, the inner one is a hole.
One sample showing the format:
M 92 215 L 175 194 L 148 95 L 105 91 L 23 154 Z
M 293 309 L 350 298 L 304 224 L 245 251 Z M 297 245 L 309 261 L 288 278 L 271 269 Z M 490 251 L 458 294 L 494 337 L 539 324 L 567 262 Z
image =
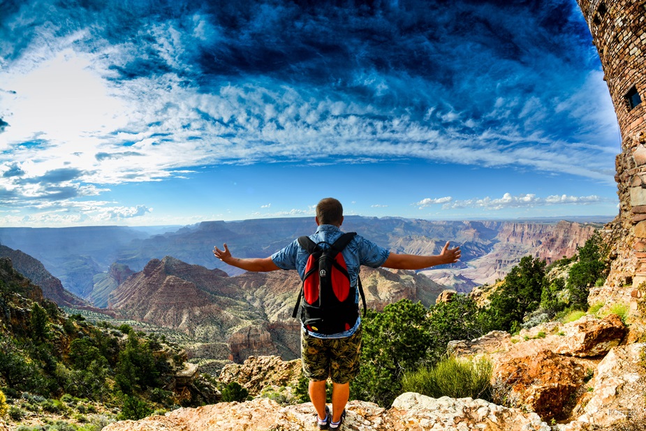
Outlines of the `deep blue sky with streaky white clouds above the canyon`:
M 618 211 L 575 0 L 2 8 L 2 226 Z

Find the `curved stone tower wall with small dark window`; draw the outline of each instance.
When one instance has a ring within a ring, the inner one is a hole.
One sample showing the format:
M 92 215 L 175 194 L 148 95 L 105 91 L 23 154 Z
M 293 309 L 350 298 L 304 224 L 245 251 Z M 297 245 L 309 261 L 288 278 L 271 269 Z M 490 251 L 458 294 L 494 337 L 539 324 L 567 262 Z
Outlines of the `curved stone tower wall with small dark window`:
M 614 260 L 605 288 L 632 289 L 646 281 L 646 0 L 577 1 L 599 51 L 622 135 L 615 175 L 619 216 L 608 226 Z M 641 103 L 631 107 L 634 90 Z

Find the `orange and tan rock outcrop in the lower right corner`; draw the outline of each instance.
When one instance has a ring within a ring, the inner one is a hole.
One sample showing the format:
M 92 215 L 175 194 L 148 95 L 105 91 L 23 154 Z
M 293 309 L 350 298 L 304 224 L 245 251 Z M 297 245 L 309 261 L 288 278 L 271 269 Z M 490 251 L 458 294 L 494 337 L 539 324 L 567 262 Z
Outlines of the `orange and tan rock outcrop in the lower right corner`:
M 550 322 L 511 337 L 495 331 L 449 343 L 463 358 L 486 356 L 494 365 L 497 402 L 555 418 L 559 430 L 643 429 L 644 344 L 630 342 L 615 314 Z M 635 428 L 621 428 L 641 421 Z M 640 428 L 641 427 L 641 428 Z

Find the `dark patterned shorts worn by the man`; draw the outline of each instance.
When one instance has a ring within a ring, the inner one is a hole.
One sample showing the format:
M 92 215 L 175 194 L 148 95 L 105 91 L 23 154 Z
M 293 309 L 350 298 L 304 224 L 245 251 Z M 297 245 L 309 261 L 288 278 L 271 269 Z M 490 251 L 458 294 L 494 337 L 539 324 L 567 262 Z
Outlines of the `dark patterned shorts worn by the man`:
M 313 381 L 327 380 L 348 383 L 359 374 L 361 326 L 350 337 L 316 338 L 300 335 L 300 353 L 305 377 Z

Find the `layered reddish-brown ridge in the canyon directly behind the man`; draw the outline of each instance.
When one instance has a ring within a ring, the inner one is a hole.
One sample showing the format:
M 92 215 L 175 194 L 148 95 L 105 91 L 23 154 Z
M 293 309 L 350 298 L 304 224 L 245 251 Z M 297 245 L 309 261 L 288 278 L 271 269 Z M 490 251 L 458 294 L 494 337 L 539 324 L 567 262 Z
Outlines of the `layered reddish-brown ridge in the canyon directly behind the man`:
M 362 268 L 367 306 L 402 298 L 434 304 L 443 290 L 409 271 Z M 251 355 L 300 355 L 300 323 L 291 317 L 300 289 L 295 271 L 228 277 L 167 256 L 150 261 L 110 295 L 110 309 L 129 319 L 180 330 L 200 344 L 194 357 L 241 362 Z M 219 343 L 226 343 L 225 349 Z M 217 356 L 214 357 L 213 355 Z

